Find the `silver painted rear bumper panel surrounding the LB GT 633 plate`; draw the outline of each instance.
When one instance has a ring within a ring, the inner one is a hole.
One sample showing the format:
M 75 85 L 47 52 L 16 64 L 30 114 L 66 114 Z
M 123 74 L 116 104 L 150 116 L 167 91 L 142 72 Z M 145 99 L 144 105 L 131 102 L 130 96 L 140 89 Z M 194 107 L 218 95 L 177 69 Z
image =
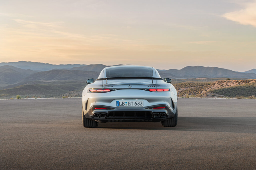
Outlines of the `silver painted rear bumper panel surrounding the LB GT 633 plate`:
M 138 100 L 143 101 L 143 107 L 116 107 L 116 101 L 122 100 Z M 151 106 L 165 105 L 166 114 L 172 115 L 171 113 L 176 112 L 177 107 L 177 95 L 172 92 L 151 92 L 139 89 L 122 89 L 115 90 L 108 93 L 87 93 L 82 96 L 82 105 L 85 115 L 91 119 L 92 109 L 95 106 L 103 106 L 112 108 L 115 111 L 148 111 L 146 108 Z M 100 110 L 99 112 L 105 112 Z M 153 111 L 153 110 L 152 110 Z M 155 110 L 154 110 L 155 111 Z M 108 111 L 106 111 L 108 112 Z

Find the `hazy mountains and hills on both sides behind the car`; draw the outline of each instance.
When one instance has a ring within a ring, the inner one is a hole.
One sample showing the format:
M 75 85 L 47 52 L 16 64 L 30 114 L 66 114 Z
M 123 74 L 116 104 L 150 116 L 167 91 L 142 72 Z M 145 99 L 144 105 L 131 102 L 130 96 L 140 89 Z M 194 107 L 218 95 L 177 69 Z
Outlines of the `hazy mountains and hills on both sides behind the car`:
M 17 94 L 23 97 L 36 95 L 61 97 L 64 94 L 79 97 L 81 90 L 86 86 L 86 80 L 97 79 L 100 71 L 105 67 L 108 66 L 103 64 L 54 65 L 26 61 L 0 63 L 0 98 L 15 97 Z M 237 72 L 218 67 L 187 66 L 180 70 L 169 69 L 158 70 L 158 72 L 162 78 L 188 79 L 187 81 L 202 77 L 221 80 L 256 79 L 256 69 Z

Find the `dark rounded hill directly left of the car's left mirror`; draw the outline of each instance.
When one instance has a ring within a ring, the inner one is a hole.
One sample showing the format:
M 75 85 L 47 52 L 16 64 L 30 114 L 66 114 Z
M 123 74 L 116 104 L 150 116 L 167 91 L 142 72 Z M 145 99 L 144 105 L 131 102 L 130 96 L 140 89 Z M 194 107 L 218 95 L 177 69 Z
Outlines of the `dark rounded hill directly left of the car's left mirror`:
M 41 71 L 38 73 L 31 74 L 24 77 L 19 82 L 30 82 L 30 81 L 52 81 L 52 80 L 75 80 L 75 81 L 86 81 L 90 78 L 98 78 L 99 72 L 95 71 L 79 71 L 79 70 L 50 70 Z

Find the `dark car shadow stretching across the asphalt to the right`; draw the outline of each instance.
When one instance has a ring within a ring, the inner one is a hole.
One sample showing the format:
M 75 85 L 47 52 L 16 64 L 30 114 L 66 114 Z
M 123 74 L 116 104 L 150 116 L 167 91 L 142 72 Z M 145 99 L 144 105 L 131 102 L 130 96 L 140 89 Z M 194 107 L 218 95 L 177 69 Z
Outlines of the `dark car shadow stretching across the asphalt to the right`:
M 256 134 L 256 117 L 179 117 L 176 127 L 163 127 L 161 122 L 114 122 L 99 123 L 98 128 Z

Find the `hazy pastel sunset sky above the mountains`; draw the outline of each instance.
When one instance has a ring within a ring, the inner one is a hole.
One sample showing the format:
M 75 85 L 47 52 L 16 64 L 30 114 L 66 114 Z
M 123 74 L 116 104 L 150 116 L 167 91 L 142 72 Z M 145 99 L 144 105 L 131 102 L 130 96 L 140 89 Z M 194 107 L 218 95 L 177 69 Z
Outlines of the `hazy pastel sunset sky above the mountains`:
M 256 68 L 256 1 L 0 0 L 0 62 Z

